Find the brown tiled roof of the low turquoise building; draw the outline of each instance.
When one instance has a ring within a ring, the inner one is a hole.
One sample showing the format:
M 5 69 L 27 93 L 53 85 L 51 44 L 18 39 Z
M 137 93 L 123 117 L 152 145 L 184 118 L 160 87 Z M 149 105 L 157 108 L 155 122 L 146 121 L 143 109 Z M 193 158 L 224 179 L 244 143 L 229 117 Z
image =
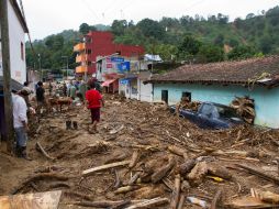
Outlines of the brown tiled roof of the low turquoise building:
M 145 82 L 279 84 L 279 55 L 245 61 L 183 65 Z

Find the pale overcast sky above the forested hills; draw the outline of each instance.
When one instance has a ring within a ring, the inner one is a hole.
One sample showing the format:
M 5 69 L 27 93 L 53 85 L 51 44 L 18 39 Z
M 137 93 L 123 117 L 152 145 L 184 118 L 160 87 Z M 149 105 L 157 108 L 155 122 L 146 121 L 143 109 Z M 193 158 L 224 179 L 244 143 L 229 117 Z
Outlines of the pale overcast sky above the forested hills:
M 23 0 L 27 25 L 33 40 L 78 30 L 83 22 L 111 24 L 113 20 L 223 13 L 245 18 L 279 4 L 278 0 Z

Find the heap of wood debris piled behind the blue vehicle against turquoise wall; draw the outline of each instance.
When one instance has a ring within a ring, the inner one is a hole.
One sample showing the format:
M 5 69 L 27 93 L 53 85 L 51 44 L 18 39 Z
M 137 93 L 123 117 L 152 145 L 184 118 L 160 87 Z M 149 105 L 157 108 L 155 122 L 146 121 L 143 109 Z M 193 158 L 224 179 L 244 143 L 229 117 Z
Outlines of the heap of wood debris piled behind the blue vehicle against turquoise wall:
M 232 101 L 231 107 L 236 109 L 237 114 L 242 117 L 245 122 L 249 124 L 254 123 L 256 117 L 254 99 L 249 97 L 236 97 Z

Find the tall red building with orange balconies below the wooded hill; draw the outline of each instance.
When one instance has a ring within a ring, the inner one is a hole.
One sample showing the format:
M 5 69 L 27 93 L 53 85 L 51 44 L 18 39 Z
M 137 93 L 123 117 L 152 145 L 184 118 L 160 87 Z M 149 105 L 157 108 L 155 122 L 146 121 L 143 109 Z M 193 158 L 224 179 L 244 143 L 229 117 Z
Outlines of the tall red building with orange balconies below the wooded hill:
M 120 55 L 123 57 L 140 57 L 144 54 L 142 46 L 115 44 L 111 32 L 93 31 L 89 32 L 83 42 L 74 46 L 74 51 L 78 53 L 76 68 L 78 75 L 92 75 L 97 72 L 97 59 L 100 56 Z

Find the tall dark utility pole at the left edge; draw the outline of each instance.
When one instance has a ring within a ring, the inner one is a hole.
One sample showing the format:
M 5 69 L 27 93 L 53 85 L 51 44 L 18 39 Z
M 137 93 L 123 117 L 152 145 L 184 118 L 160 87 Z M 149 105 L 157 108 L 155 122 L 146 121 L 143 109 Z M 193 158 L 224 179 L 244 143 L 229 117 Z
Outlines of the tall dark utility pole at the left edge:
M 3 94 L 4 94 L 4 124 L 7 135 L 7 151 L 12 152 L 13 147 L 13 114 L 11 95 L 11 62 L 10 62 L 10 40 L 8 22 L 8 0 L 0 0 L 0 24 L 1 45 L 3 65 Z

